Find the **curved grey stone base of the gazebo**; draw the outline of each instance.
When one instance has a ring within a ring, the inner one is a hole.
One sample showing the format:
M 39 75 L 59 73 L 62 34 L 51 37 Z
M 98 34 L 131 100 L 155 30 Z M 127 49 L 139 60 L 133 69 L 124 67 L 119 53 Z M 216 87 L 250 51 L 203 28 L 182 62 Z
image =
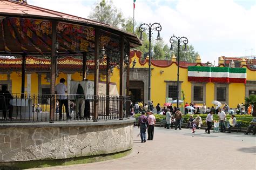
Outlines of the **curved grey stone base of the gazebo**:
M 122 157 L 133 146 L 134 120 L 1 124 L 0 167 L 83 164 Z

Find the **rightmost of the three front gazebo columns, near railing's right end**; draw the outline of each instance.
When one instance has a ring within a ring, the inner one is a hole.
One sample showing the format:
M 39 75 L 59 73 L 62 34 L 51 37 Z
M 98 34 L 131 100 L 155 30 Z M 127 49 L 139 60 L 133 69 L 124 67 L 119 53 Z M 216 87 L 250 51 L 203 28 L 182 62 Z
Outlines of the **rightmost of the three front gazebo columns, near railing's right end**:
M 121 97 L 121 100 L 119 100 L 119 120 L 123 120 L 124 114 L 123 114 L 123 71 L 124 71 L 124 37 L 121 37 L 121 56 L 120 56 L 120 84 L 119 84 L 119 96 Z

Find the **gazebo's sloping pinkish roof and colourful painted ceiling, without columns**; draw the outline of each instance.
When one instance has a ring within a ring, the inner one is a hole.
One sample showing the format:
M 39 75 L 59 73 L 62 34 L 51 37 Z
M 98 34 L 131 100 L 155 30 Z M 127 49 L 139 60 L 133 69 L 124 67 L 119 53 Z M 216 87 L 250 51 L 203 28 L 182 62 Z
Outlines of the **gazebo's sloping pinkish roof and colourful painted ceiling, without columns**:
M 17 2 L 0 1 L 0 55 L 49 55 L 51 21 L 57 21 L 58 52 L 94 53 L 95 29 L 100 29 L 100 46 L 120 50 L 123 36 L 130 47 L 141 45 L 132 33 L 110 25 Z

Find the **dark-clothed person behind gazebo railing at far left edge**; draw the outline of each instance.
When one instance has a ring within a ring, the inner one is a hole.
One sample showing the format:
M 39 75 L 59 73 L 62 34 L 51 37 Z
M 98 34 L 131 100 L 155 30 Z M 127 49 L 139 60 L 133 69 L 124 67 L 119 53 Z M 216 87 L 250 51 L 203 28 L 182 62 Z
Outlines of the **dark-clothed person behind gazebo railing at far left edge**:
M 12 98 L 11 93 L 7 91 L 7 86 L 3 85 L 0 91 L 0 110 L 3 110 L 4 119 L 6 118 L 6 111 L 9 110 L 8 117 L 12 120 L 12 110 L 14 108 L 14 106 L 10 104 Z

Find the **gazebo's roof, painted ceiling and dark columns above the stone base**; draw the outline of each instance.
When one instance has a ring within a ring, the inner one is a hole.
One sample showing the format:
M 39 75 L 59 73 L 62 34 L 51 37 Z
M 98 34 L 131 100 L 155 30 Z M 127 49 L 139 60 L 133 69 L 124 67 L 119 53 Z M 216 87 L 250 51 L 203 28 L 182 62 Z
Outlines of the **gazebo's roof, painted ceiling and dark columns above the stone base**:
M 49 73 L 52 96 L 55 93 L 56 73 L 60 69 L 73 69 L 74 63 L 69 65 L 69 62 L 79 60 L 82 62 L 83 80 L 86 70 L 94 72 L 93 120 L 97 120 L 99 70 L 105 71 L 108 76 L 111 68 L 119 67 L 120 75 L 123 75 L 124 64 L 130 62 L 127 57 L 130 48 L 141 45 L 138 37 L 107 24 L 24 3 L 0 1 L 0 9 L 0 56 L 14 58 L 11 62 L 18 61 L 15 69 L 22 72 L 21 98 L 25 92 L 26 71 L 35 69 L 27 65 L 31 64 L 31 59 L 33 64 L 37 64 L 38 70 Z M 67 56 L 71 58 L 68 64 L 62 64 Z M 37 59 L 45 60 L 48 64 L 35 62 Z M 9 64 L 2 62 L 1 72 L 14 69 Z M 109 78 L 106 78 L 106 115 L 109 114 L 109 83 Z M 123 76 L 120 76 L 119 96 L 125 96 L 123 84 Z M 126 91 L 129 92 L 129 81 Z M 118 103 L 119 119 L 123 118 L 123 101 Z M 51 97 L 50 122 L 53 121 L 53 113 L 55 98 Z

